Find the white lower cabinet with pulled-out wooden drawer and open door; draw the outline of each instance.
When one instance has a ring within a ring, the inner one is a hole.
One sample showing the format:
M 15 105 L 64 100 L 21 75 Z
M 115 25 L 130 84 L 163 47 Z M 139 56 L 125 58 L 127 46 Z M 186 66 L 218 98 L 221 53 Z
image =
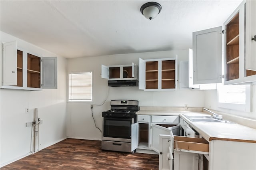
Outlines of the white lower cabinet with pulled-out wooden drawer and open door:
M 209 143 L 204 138 L 160 135 L 159 170 L 202 170 Z M 208 169 L 208 166 L 206 167 Z

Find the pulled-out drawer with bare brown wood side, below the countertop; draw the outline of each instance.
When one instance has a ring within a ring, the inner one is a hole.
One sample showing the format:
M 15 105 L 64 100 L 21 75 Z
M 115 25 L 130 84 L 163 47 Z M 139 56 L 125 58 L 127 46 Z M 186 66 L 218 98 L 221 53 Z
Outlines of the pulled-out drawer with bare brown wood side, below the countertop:
M 209 152 L 209 143 L 204 138 L 174 136 L 174 149 L 184 152 Z M 207 154 L 207 153 L 206 153 Z

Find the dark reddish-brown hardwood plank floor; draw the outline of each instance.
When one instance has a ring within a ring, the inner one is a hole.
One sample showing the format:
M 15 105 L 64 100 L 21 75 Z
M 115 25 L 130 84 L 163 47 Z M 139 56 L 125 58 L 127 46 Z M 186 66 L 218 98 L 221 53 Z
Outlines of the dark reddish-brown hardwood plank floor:
M 158 155 L 101 150 L 101 141 L 65 139 L 1 170 L 158 170 Z

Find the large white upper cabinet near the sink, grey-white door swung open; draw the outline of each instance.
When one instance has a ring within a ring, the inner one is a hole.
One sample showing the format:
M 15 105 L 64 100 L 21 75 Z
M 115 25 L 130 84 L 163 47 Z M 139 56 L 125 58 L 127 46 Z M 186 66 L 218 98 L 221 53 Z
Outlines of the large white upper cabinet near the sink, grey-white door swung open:
M 193 84 L 221 83 L 222 72 L 224 85 L 256 81 L 254 5 L 253 1 L 243 1 L 236 8 L 224 22 L 223 39 L 221 27 L 193 33 Z

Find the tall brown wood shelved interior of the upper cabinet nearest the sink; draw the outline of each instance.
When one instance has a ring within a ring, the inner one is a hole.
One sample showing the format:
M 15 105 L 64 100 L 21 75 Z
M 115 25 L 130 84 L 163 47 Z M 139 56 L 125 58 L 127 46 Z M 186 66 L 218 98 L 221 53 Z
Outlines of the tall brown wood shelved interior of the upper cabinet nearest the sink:
M 239 12 L 226 25 L 226 80 L 239 78 Z

